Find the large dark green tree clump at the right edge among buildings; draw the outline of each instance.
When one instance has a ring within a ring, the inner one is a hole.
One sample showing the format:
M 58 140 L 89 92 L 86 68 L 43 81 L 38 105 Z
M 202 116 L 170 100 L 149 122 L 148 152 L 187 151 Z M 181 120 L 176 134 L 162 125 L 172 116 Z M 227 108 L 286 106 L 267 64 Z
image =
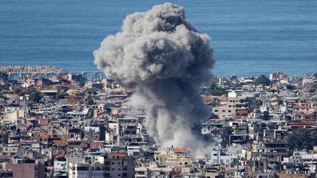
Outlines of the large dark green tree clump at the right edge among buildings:
M 311 133 L 307 128 L 298 128 L 287 138 L 291 153 L 296 149 L 313 149 L 317 145 L 317 133 Z

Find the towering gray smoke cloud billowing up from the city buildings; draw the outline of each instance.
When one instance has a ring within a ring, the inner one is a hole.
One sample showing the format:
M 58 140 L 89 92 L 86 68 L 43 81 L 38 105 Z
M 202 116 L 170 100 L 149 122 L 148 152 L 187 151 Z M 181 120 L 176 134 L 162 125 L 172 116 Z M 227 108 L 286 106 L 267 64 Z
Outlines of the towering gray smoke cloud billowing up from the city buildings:
M 186 21 L 183 7 L 164 3 L 127 15 L 122 30 L 94 51 L 108 78 L 136 88 L 131 103 L 145 104 L 145 127 L 156 142 L 187 148 L 194 158 L 210 154 L 215 142 L 201 134 L 211 114 L 199 93 L 213 79 L 210 41 Z

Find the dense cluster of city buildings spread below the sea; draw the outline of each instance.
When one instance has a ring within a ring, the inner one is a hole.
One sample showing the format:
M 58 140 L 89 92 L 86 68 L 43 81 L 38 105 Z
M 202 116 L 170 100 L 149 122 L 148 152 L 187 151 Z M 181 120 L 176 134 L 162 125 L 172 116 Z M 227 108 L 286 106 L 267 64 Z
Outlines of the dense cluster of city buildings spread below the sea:
M 317 77 L 217 76 L 227 94 L 202 92 L 210 155 L 162 148 L 147 133 L 134 89 L 103 76 L 0 73 L 0 178 L 315 178 L 317 146 L 290 151 L 298 128 L 317 131 Z M 203 91 L 203 90 L 202 90 Z

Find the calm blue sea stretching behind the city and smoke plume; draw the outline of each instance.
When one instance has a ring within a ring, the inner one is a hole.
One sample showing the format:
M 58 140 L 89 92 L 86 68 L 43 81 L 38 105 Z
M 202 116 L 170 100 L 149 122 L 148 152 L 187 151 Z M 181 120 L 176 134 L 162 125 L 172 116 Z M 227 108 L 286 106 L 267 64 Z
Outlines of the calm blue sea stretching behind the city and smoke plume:
M 0 0 L 0 66 L 97 71 L 92 52 L 162 0 Z M 317 0 L 172 0 L 211 36 L 215 75 L 317 72 Z

